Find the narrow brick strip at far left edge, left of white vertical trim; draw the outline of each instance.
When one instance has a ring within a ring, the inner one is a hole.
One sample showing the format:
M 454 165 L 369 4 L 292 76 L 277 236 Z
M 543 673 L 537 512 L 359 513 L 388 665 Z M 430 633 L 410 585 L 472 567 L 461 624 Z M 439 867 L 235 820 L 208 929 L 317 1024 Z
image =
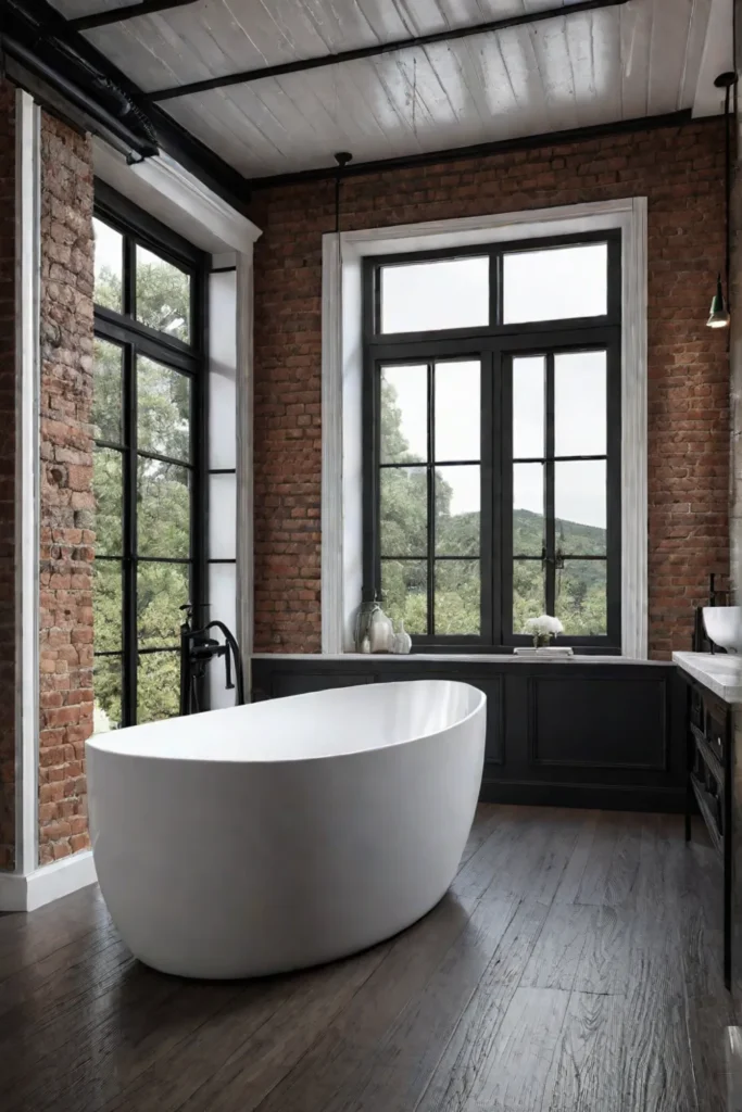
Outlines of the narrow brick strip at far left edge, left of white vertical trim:
M 16 841 L 16 90 L 0 81 L 0 870 Z

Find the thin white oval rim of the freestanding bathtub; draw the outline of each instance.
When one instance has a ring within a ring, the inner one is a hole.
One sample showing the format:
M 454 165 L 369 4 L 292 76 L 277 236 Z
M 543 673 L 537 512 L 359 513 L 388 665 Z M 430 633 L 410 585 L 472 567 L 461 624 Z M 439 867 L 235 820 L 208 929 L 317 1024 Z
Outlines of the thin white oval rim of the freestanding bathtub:
M 368 687 L 376 687 L 376 686 L 383 686 L 384 688 L 412 687 L 412 686 L 421 686 L 423 684 L 429 686 L 431 684 L 438 684 L 438 683 L 453 685 L 455 687 L 466 687 L 468 688 L 468 691 L 475 692 L 477 695 L 476 705 L 473 707 L 473 709 L 468 712 L 468 714 L 464 715 L 462 718 L 457 718 L 455 722 L 448 723 L 441 729 L 436 729 L 426 734 L 415 734 L 412 737 L 404 737 L 394 742 L 388 742 L 387 744 L 384 745 L 374 745 L 372 747 L 366 747 L 362 749 L 344 749 L 342 753 L 300 754 L 294 757 L 284 756 L 284 757 L 270 757 L 266 759 L 259 759 L 254 757 L 249 761 L 246 761 L 240 757 L 231 757 L 231 756 L 221 756 L 221 757 L 204 756 L 204 755 L 189 756 L 188 754 L 171 754 L 166 756 L 165 754 L 161 753 L 131 752 L 122 747 L 101 746 L 98 744 L 98 738 L 112 739 L 115 737 L 122 736 L 123 734 L 126 734 L 127 731 L 147 728 L 148 726 L 165 727 L 167 725 L 172 725 L 174 723 L 179 722 L 185 717 L 187 717 L 190 721 L 194 721 L 210 714 L 229 714 L 235 711 L 246 709 L 250 706 L 261 706 L 265 705 L 266 703 L 288 703 L 288 702 L 294 703 L 297 699 L 308 699 L 308 698 L 315 698 L 318 695 L 336 694 L 338 691 L 343 692 L 358 691 L 358 689 L 365 691 Z M 475 717 L 475 715 L 479 714 L 483 711 L 483 708 L 486 707 L 486 703 L 487 703 L 486 694 L 479 687 L 476 687 L 474 684 L 469 684 L 464 679 L 442 679 L 438 677 L 435 678 L 431 677 L 429 679 L 395 679 L 389 683 L 384 683 L 383 685 L 354 684 L 352 687 L 343 687 L 343 688 L 328 687 L 319 692 L 304 692 L 300 695 L 286 695 L 276 699 L 263 699 L 260 701 L 260 703 L 246 703 L 241 707 L 226 707 L 226 708 L 219 708 L 217 711 L 201 711 L 199 712 L 199 714 L 187 715 L 187 716 L 178 715 L 175 718 L 164 718 L 160 719 L 159 722 L 141 723 L 141 725 L 137 726 L 125 726 L 122 729 L 110 729 L 107 731 L 105 734 L 91 734 L 90 737 L 86 739 L 85 744 L 86 744 L 86 753 L 89 747 L 91 752 L 99 753 L 101 755 L 108 755 L 111 757 L 126 757 L 136 761 L 162 761 L 169 763 L 188 762 L 189 764 L 205 764 L 215 766 L 236 765 L 240 767 L 244 765 L 260 765 L 260 766 L 265 765 L 266 767 L 275 765 L 298 765 L 298 764 L 308 764 L 309 762 L 314 763 L 318 761 L 340 761 L 345 757 L 357 757 L 366 753 L 386 752 L 389 749 L 399 748 L 403 745 L 413 745 L 414 743 L 425 741 L 428 737 L 437 737 L 441 734 L 445 734 L 449 729 L 454 729 L 463 725 L 464 723 L 469 722 L 472 718 Z

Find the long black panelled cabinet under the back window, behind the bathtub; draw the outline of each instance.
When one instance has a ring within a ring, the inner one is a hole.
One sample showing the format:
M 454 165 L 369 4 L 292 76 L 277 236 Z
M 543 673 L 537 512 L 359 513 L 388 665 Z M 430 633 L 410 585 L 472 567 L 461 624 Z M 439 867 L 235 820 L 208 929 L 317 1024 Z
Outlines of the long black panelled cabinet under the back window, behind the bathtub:
M 433 656 L 258 656 L 253 697 L 399 679 L 459 679 L 487 696 L 482 800 L 682 812 L 684 687 L 671 664 Z

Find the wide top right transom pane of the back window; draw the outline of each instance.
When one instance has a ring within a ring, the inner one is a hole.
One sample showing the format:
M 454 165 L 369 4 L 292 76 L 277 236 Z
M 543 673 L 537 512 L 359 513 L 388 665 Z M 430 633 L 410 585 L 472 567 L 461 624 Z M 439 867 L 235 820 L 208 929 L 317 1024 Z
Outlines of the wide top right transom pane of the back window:
M 503 257 L 503 321 L 602 317 L 607 312 L 607 244 L 546 247 Z

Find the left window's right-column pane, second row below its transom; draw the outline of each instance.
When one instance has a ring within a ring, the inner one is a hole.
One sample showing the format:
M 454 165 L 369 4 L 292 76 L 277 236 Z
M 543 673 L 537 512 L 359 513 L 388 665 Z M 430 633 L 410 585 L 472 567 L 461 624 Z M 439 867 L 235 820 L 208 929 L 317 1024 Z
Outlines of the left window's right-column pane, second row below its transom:
M 190 555 L 190 471 L 177 464 L 139 459 L 137 546 L 140 556 Z

